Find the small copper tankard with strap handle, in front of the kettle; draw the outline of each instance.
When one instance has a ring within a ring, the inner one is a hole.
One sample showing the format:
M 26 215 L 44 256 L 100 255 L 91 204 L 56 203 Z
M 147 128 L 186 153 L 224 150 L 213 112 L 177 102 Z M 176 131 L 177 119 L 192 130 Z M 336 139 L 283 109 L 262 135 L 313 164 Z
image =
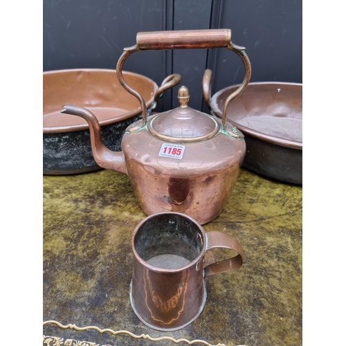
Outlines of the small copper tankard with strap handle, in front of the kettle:
M 204 263 L 210 248 L 228 248 L 237 255 Z M 203 228 L 191 217 L 162 212 L 143 219 L 132 236 L 134 273 L 130 300 L 145 325 L 174 331 L 195 320 L 206 303 L 206 277 L 240 268 L 242 246 L 227 233 Z

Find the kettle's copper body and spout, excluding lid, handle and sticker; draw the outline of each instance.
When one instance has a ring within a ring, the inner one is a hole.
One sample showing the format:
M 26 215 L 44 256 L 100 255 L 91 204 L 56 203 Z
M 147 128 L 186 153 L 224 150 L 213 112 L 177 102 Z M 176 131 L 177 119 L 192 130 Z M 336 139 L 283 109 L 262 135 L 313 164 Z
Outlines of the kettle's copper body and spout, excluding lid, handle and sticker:
M 244 160 L 244 138 L 236 139 L 220 130 L 209 140 L 183 143 L 183 155 L 176 159 L 159 155 L 165 142 L 148 134 L 138 120 L 125 132 L 122 152 L 112 152 L 102 144 L 100 125 L 93 113 L 70 105 L 64 108 L 64 112 L 88 121 L 98 165 L 129 174 L 145 214 L 183 212 L 206 224 L 223 210 Z

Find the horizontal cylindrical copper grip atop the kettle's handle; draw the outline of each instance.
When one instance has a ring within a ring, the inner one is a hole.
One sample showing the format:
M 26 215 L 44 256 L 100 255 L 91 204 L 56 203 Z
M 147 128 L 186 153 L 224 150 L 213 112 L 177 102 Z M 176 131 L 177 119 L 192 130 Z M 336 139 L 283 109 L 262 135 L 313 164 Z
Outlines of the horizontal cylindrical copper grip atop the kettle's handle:
M 176 48 L 224 48 L 230 43 L 230 29 L 167 30 L 137 34 L 140 51 Z

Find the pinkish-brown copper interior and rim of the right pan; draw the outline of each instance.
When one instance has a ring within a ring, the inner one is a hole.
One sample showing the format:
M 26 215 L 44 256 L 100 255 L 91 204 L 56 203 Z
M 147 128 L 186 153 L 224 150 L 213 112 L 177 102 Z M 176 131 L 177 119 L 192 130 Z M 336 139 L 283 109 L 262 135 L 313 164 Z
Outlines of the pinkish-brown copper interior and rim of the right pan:
M 209 73 L 206 80 L 209 80 Z M 221 118 L 225 100 L 239 85 L 212 96 L 210 107 Z M 210 91 L 205 91 L 206 95 Z M 302 149 L 302 84 L 254 82 L 232 103 L 227 119 L 244 134 L 269 143 Z

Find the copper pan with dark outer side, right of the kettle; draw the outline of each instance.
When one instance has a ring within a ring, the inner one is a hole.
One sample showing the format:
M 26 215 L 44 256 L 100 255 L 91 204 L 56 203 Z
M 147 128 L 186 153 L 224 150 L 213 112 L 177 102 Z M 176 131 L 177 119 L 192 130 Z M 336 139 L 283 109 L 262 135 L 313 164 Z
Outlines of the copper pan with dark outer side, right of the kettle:
M 211 71 L 203 77 L 203 97 L 211 113 L 222 116 L 224 102 L 239 85 L 210 99 Z M 243 167 L 273 179 L 302 185 L 302 84 L 253 82 L 228 109 L 228 122 L 245 136 Z

